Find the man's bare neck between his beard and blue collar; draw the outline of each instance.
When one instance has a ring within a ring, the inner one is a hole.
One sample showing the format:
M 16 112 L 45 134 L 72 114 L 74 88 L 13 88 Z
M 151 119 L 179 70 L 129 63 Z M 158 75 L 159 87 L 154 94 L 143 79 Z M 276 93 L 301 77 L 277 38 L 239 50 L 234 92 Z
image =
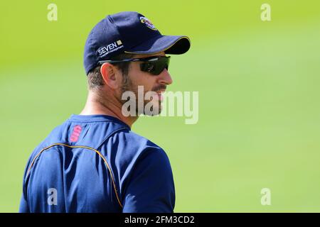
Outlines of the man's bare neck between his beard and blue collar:
M 119 102 L 117 104 L 115 103 L 117 103 L 117 101 L 105 101 L 101 96 L 89 92 L 85 108 L 81 111 L 80 115 L 103 114 L 113 116 L 131 128 L 134 121 L 137 121 L 138 116 L 123 116 L 122 105 Z

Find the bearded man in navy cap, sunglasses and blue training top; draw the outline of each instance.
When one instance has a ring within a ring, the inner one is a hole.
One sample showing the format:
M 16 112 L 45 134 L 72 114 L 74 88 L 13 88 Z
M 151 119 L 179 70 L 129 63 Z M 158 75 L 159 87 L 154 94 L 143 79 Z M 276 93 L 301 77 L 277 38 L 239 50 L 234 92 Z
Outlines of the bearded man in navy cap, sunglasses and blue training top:
M 137 12 L 109 15 L 97 23 L 85 43 L 85 108 L 31 154 L 20 211 L 173 212 L 169 159 L 131 126 L 139 114 L 159 114 L 161 92 L 172 83 L 166 54 L 189 48 L 186 36 L 161 35 Z M 122 98 L 131 92 L 135 96 L 129 98 L 137 99 L 139 87 L 153 93 L 142 100 L 142 108 L 129 106 L 128 115 L 122 107 L 130 100 Z

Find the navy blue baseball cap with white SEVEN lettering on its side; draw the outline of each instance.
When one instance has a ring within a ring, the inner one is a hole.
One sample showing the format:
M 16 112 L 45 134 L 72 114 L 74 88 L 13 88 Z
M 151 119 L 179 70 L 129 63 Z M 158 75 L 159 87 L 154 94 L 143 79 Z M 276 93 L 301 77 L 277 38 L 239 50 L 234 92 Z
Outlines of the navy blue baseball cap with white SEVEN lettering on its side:
M 161 35 L 148 18 L 137 12 L 108 15 L 92 28 L 85 43 L 85 73 L 101 60 L 112 60 L 121 53 L 180 55 L 190 48 L 184 35 Z

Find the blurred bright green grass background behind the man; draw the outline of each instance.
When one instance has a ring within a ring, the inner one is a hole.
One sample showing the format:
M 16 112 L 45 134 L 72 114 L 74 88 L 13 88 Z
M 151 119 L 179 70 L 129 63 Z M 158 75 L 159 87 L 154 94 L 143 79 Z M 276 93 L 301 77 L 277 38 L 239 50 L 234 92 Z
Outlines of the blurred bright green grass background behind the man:
M 47 19 L 50 3 L 58 21 Z M 264 3 L 272 21 L 260 19 Z M 175 211 L 319 212 L 319 9 L 316 0 L 1 1 L 0 211 L 18 211 L 33 148 L 85 104 L 91 28 L 139 11 L 192 42 L 171 59 L 168 90 L 199 92 L 198 123 L 148 117 L 132 128 L 169 155 Z

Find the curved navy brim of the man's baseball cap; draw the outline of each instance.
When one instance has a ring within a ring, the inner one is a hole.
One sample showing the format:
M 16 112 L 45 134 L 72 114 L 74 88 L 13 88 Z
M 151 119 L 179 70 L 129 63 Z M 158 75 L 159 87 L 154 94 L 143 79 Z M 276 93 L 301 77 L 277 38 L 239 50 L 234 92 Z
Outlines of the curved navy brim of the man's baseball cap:
M 189 50 L 190 45 L 191 42 L 187 36 L 160 35 L 146 40 L 144 43 L 125 52 L 150 55 L 164 51 L 166 54 L 181 55 Z

